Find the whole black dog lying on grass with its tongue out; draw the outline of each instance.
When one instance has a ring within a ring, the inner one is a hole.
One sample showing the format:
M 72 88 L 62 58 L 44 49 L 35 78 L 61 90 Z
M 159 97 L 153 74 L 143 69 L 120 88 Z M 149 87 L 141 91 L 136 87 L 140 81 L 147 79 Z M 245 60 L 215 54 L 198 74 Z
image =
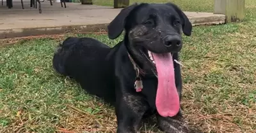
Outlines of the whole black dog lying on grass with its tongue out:
M 180 66 L 182 32 L 188 17 L 175 4 L 132 4 L 108 25 L 109 48 L 92 38 L 67 38 L 54 54 L 58 73 L 74 78 L 88 93 L 115 106 L 117 132 L 137 132 L 140 121 L 156 115 L 165 132 L 200 132 L 182 120 Z

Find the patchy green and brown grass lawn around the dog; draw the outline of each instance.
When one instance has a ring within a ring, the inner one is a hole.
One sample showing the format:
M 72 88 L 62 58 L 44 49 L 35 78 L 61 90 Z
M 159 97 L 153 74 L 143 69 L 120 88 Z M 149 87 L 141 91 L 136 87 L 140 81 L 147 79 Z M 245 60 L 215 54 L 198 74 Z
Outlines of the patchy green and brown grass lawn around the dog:
M 213 5 L 212 0 L 174 2 L 186 11 L 212 11 Z M 255 29 L 256 1 L 246 0 L 244 22 L 198 26 L 191 37 L 184 36 L 182 109 L 205 132 L 256 132 Z M 76 36 L 110 46 L 120 41 L 104 34 Z M 57 45 L 58 39 L 23 39 L 0 48 L 0 132 L 115 132 L 113 108 L 53 71 Z M 141 130 L 158 132 L 147 125 Z

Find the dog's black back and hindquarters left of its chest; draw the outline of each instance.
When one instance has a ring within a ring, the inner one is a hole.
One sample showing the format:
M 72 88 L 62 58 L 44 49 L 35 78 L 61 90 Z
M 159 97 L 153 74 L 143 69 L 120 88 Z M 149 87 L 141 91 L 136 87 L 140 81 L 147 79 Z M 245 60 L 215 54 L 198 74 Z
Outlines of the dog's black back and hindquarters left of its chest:
M 58 46 L 52 65 L 65 76 L 78 81 L 86 92 L 97 95 L 112 102 L 115 89 L 110 81 L 113 74 L 108 54 L 109 46 L 92 38 L 67 38 Z M 112 97 L 112 98 L 109 98 Z

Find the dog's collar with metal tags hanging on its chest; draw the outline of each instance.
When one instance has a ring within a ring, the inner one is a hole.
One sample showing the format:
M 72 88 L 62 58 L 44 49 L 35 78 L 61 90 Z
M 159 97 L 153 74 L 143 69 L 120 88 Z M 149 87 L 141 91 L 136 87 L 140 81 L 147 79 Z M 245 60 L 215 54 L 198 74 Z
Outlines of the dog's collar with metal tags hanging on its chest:
M 145 75 L 145 71 L 143 71 L 143 69 L 141 69 L 132 59 L 131 55 L 128 53 L 129 59 L 132 62 L 132 65 L 134 67 L 134 70 L 136 71 L 136 78 L 135 78 L 135 83 L 134 83 L 134 88 L 136 90 L 136 92 L 141 92 L 142 88 L 143 88 L 143 83 L 141 80 L 140 75 Z

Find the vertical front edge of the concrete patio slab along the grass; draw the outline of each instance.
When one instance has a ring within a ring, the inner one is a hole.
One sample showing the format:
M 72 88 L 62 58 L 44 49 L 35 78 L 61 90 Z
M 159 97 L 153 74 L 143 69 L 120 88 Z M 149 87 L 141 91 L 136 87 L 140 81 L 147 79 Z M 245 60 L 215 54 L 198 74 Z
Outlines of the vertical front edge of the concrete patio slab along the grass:
M 189 17 L 193 26 L 225 24 L 225 15 Z M 40 36 L 51 34 L 65 34 L 74 32 L 99 32 L 106 30 L 108 24 L 91 25 L 62 25 L 59 27 L 35 27 L 24 29 L 0 29 L 0 39 L 19 38 L 25 36 Z

